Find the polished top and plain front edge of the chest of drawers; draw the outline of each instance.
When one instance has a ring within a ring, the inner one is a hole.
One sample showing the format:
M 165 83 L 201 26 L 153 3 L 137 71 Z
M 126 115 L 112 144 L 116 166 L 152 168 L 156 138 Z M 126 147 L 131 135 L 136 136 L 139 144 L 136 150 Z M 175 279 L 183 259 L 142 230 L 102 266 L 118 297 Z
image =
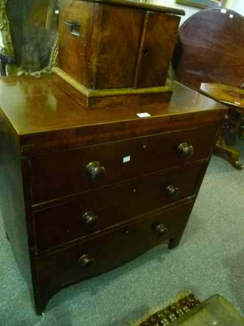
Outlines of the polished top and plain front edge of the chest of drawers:
M 202 126 L 223 115 L 224 105 L 178 83 L 173 89 L 171 101 L 159 106 L 88 111 L 52 77 L 8 77 L 0 79 L 0 107 L 26 155 Z

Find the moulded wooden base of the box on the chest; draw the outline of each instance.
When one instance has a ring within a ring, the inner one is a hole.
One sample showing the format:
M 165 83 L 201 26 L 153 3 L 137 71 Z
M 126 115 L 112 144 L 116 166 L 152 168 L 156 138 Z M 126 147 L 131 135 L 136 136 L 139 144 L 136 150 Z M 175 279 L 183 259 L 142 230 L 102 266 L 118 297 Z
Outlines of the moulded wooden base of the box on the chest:
M 87 109 L 167 103 L 172 96 L 170 86 L 92 90 L 57 67 L 53 68 L 53 72 L 53 83 Z

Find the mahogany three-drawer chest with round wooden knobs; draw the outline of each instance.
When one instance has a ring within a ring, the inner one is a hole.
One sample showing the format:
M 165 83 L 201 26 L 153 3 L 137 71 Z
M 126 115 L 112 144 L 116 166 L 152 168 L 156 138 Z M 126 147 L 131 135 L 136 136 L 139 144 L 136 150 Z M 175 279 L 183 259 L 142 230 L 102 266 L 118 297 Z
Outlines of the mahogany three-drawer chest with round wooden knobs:
M 38 313 L 69 284 L 178 245 L 222 104 L 177 83 L 168 104 L 98 111 L 51 77 L 2 78 L 0 92 L 1 210 Z

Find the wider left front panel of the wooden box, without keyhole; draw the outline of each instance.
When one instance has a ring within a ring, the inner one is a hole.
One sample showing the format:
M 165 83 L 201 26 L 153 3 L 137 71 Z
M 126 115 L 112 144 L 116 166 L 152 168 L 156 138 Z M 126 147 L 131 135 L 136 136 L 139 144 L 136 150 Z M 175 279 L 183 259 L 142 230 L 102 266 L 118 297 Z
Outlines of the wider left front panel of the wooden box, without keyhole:
M 90 78 L 88 88 L 133 87 L 144 12 L 128 7 L 106 5 L 97 7 L 97 10 L 101 11 L 98 13 L 101 16 L 100 24 L 95 22 L 96 28 L 99 29 L 96 31 L 99 39 L 94 38 L 93 42 L 97 44 L 91 45 L 94 79 Z M 124 64 L 123 60 L 126 60 Z

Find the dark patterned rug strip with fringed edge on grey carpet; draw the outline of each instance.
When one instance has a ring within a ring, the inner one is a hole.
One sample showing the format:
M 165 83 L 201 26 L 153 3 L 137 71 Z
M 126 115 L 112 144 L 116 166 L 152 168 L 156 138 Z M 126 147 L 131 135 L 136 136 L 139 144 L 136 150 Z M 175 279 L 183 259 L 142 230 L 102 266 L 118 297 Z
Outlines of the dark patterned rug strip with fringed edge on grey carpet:
M 179 295 L 176 300 L 164 309 L 149 313 L 144 319 L 133 323 L 132 326 L 168 326 L 182 315 L 195 308 L 200 301 L 193 294 Z

